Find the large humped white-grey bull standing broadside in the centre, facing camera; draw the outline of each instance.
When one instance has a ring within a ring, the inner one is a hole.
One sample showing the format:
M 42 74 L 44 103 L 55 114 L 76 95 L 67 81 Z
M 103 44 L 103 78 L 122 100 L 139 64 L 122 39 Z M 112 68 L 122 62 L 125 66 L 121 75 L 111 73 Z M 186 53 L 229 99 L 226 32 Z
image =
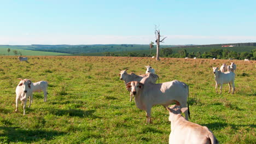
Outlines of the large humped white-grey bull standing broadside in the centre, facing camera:
M 188 86 L 180 81 L 174 80 L 164 83 L 152 83 L 151 77 L 144 77 L 141 82 L 131 81 L 126 84 L 127 91 L 131 92 L 135 97 L 138 109 L 147 112 L 147 123 L 151 123 L 150 113 L 154 105 L 163 105 L 167 107 L 172 103 L 187 107 L 189 96 Z M 189 105 L 188 105 L 189 107 Z M 185 113 L 188 119 L 189 111 Z

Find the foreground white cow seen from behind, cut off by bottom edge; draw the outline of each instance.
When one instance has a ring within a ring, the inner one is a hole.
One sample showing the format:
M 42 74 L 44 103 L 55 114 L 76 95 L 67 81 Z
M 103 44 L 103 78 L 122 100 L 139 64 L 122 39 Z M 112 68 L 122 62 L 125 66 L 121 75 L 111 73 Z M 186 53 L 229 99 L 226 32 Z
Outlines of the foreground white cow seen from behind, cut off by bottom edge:
M 217 144 L 219 143 L 216 137 L 207 127 L 202 127 L 187 121 L 181 113 L 188 111 L 188 107 L 172 105 L 166 107 L 169 111 L 168 120 L 171 122 L 171 133 L 169 136 L 169 143 L 179 144 Z

